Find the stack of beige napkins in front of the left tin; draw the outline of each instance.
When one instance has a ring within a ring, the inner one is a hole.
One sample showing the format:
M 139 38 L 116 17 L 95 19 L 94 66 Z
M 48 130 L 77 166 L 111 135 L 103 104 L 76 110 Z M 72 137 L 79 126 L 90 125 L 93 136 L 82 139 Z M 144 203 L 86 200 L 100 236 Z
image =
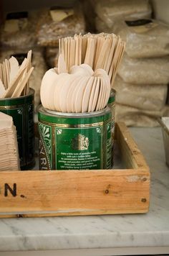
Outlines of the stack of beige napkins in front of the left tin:
M 12 117 L 0 112 L 0 170 L 20 170 L 16 128 Z

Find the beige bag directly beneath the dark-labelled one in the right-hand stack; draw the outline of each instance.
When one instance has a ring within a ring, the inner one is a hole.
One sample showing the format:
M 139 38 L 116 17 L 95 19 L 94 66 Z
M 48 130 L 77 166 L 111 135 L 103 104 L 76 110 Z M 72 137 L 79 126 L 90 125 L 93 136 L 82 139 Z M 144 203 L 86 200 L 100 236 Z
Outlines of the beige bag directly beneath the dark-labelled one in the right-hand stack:
M 167 84 L 169 56 L 162 58 L 130 58 L 125 54 L 118 70 L 126 83 Z

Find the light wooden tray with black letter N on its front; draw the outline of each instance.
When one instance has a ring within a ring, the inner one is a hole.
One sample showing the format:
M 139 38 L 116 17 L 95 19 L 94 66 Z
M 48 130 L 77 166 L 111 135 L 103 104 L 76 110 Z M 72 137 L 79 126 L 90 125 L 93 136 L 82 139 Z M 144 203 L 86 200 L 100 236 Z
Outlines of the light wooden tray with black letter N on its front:
M 125 169 L 1 172 L 0 217 L 147 212 L 148 165 L 125 124 L 115 134 Z

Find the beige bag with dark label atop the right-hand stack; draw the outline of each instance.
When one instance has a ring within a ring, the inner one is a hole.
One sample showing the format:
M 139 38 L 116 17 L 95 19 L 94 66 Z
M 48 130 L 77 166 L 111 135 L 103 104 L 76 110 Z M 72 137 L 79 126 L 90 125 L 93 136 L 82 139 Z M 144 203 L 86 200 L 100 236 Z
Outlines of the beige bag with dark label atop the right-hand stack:
M 169 54 L 169 26 L 155 19 L 126 19 L 115 22 L 114 32 L 126 41 L 131 58 L 161 57 Z

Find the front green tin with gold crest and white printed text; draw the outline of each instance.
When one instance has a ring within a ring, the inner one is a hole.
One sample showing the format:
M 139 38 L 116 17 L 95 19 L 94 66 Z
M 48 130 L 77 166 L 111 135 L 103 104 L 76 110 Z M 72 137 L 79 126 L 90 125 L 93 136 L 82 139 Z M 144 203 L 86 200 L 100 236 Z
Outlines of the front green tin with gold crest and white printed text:
M 39 170 L 112 168 L 112 111 L 60 113 L 39 106 Z

